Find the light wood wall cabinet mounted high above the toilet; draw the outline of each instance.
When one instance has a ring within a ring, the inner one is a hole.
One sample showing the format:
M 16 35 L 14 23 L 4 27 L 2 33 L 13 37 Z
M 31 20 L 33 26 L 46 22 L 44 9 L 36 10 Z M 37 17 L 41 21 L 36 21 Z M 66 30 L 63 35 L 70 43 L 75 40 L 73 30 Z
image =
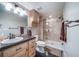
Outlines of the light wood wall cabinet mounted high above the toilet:
M 28 27 L 37 27 L 39 25 L 40 14 L 36 10 L 28 12 Z

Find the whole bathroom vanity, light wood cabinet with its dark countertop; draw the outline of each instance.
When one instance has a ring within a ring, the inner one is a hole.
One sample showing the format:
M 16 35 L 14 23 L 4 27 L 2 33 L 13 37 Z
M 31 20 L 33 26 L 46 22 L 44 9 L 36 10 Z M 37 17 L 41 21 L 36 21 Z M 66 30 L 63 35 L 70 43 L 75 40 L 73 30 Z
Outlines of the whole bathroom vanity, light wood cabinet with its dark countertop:
M 23 40 L 8 45 L 0 46 L 1 57 L 34 57 L 35 37 L 24 37 Z

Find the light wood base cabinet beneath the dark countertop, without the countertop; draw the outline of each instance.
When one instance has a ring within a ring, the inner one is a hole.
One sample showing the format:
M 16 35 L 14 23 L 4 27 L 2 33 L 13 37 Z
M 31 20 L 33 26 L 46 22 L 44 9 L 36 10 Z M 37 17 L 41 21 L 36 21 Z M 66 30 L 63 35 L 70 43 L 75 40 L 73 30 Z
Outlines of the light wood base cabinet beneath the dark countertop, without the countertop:
M 3 57 L 28 57 L 35 56 L 35 39 L 12 46 L 8 49 L 0 51 L 0 56 Z

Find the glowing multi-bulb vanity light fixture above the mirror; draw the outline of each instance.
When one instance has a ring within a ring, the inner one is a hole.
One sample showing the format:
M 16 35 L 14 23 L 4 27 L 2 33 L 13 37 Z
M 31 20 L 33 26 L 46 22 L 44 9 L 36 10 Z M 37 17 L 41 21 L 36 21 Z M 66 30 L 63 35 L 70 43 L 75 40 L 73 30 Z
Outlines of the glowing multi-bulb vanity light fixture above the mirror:
M 24 16 L 24 15 L 27 15 L 26 14 L 26 11 L 24 10 L 24 9 L 22 9 L 22 8 L 20 8 L 18 5 L 16 5 L 16 4 L 12 4 L 12 3 L 8 3 L 8 2 L 6 2 L 6 3 L 1 3 L 1 4 L 3 4 L 4 6 L 5 6 L 5 9 L 7 10 L 7 11 L 13 11 L 15 14 L 18 14 L 18 15 L 20 15 L 20 16 Z

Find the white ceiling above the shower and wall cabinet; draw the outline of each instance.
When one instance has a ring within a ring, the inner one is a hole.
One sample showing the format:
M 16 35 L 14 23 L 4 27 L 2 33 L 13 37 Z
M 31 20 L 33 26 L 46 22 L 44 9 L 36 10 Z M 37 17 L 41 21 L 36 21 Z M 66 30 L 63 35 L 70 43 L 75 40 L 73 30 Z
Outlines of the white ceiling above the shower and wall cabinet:
M 20 5 L 28 10 L 35 9 L 45 18 L 59 17 L 63 13 L 64 2 L 19 2 Z

